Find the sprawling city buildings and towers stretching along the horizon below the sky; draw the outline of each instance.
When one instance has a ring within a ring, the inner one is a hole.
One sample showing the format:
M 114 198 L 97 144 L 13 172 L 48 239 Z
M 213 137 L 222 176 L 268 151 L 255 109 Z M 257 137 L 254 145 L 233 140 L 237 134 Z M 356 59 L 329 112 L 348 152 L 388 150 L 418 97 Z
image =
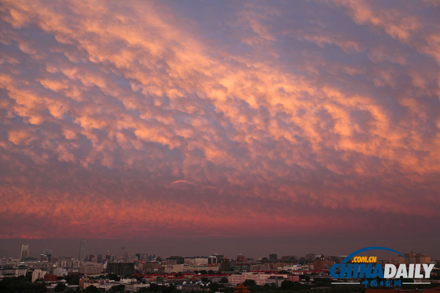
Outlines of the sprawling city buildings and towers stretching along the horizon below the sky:
M 246 292 L 245 286 L 240 284 L 249 281 L 258 286 L 267 284 L 278 288 L 284 281 L 310 282 L 317 277 L 329 278 L 330 267 L 345 257 L 315 253 L 278 257 L 276 253 L 270 253 L 268 257 L 252 259 L 242 253 L 234 258 L 216 253 L 209 256 L 172 255 L 162 258 L 155 254 L 132 253 L 125 247 L 121 247 L 117 255 L 110 251 L 86 254 L 86 239 L 81 239 L 78 258 L 66 255 L 54 257 L 53 250 L 49 248 L 43 248 L 33 257 L 29 245 L 23 244 L 20 258 L 0 259 L 0 279 L 28 276 L 32 282 L 53 287 L 73 277 L 79 279 L 79 284 L 66 284 L 74 289 L 79 287 L 84 290 L 88 286 L 95 286 L 109 290 L 113 286 L 124 286 L 126 292 L 138 292 L 151 284 L 174 284 L 182 291 L 204 291 L 206 286 L 214 282 L 235 286 L 237 291 L 234 292 Z M 416 252 L 377 262 L 432 263 L 429 255 Z

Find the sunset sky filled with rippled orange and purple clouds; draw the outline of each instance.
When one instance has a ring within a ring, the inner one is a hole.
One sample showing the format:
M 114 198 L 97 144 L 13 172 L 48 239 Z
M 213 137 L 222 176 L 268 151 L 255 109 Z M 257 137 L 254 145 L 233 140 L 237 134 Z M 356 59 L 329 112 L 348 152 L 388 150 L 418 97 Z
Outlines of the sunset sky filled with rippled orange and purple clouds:
M 440 257 L 438 1 L 2 0 L 0 52 L 0 257 Z

